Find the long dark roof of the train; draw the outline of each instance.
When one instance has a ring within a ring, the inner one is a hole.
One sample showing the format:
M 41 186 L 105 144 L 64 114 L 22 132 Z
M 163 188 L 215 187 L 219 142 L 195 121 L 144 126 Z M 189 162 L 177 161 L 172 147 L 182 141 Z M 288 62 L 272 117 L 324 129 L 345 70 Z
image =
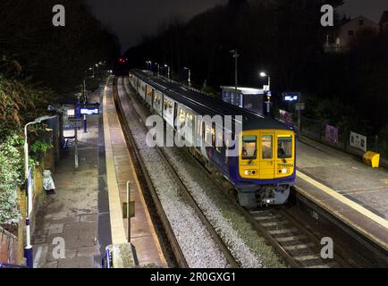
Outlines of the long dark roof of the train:
M 186 105 L 200 115 L 241 115 L 243 118 L 243 130 L 292 130 L 289 126 L 276 119 L 268 118 L 240 108 L 239 106 L 225 103 L 222 100 L 209 97 L 177 82 L 165 80 L 163 77 L 150 76 L 146 72 L 139 70 L 133 70 L 131 73 L 148 85 L 163 92 L 167 97 L 172 97 L 174 100 L 180 102 L 182 105 Z

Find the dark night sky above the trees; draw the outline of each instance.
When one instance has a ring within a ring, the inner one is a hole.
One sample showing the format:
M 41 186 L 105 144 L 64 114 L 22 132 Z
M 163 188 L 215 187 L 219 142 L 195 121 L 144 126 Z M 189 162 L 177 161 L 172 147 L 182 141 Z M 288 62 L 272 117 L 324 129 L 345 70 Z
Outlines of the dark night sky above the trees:
M 256 0 L 260 1 L 260 0 Z M 290 0 L 291 1 L 291 0 Z M 122 43 L 122 50 L 136 45 L 143 34 L 151 34 L 161 21 L 172 15 L 183 19 L 201 13 L 227 0 L 87 0 L 97 18 L 108 24 Z M 349 16 L 364 15 L 378 22 L 388 0 L 345 0 L 342 12 Z

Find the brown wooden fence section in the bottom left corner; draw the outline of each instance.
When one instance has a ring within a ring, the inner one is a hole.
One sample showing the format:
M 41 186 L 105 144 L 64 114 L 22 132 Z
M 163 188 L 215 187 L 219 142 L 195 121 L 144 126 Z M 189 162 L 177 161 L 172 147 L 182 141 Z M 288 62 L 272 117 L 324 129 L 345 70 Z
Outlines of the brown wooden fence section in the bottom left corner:
M 0 263 L 18 263 L 18 238 L 0 227 Z

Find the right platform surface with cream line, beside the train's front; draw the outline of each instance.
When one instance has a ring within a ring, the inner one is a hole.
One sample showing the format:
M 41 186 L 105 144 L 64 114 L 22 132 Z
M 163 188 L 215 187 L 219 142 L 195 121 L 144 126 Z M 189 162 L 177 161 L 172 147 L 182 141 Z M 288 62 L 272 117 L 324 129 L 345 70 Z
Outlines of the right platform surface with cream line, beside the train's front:
M 297 156 L 296 190 L 388 249 L 388 171 L 306 138 Z

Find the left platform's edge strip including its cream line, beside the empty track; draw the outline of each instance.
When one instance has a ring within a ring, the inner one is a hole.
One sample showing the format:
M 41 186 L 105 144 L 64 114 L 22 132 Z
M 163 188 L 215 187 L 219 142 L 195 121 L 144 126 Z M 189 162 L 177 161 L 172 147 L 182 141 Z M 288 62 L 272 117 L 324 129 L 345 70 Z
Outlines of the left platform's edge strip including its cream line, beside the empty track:
M 103 108 L 112 241 L 120 244 L 128 239 L 127 220 L 122 219 L 122 203 L 127 200 L 127 181 L 131 181 L 131 200 L 135 201 L 135 217 L 131 218 L 131 244 L 136 250 L 139 265 L 167 267 L 122 133 L 112 86 L 105 86 Z

